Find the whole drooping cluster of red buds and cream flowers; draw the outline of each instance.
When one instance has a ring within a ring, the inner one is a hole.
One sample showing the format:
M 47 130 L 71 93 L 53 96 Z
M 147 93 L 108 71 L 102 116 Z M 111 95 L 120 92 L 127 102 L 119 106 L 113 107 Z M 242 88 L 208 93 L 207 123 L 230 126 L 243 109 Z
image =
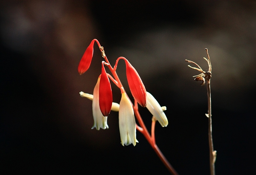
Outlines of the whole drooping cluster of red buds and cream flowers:
M 147 107 L 149 112 L 156 118 L 162 127 L 168 125 L 168 120 L 163 112 L 166 107 L 161 107 L 156 99 L 146 91 L 138 72 L 127 59 L 124 57 L 119 57 L 116 60 L 116 64 L 113 68 L 108 62 L 103 47 L 100 46 L 100 43 L 96 39 L 92 40 L 78 65 L 78 73 L 80 75 L 86 72 L 90 67 L 93 56 L 93 45 L 95 42 L 98 44 L 101 55 L 105 61 L 101 62 L 101 74 L 94 87 L 93 95 L 80 92 L 82 97 L 92 100 L 92 115 L 94 119 L 92 129 L 96 128 L 97 130 L 100 130 L 100 128 L 108 128 L 107 117 L 110 111 L 118 111 L 121 144 L 123 146 L 133 144 L 135 146 L 136 142 L 138 141 L 136 139 L 134 108 L 133 103 L 127 96 L 124 87 L 116 74 L 118 61 L 122 59 L 125 62 L 126 77 L 129 89 L 135 101 L 134 104 L 139 103 L 140 106 Z M 109 68 L 113 77 L 106 72 L 105 66 Z M 113 102 L 112 89 L 109 79 L 121 90 L 122 97 L 119 104 Z

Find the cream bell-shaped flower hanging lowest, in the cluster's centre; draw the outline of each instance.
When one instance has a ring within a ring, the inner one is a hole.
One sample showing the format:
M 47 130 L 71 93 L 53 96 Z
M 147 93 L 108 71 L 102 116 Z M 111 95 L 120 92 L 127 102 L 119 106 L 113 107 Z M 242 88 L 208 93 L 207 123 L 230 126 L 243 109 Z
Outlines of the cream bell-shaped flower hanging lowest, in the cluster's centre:
M 136 123 L 132 103 L 128 99 L 126 93 L 122 93 L 120 107 L 119 107 L 119 131 L 121 137 L 121 144 L 133 146 L 136 145 Z

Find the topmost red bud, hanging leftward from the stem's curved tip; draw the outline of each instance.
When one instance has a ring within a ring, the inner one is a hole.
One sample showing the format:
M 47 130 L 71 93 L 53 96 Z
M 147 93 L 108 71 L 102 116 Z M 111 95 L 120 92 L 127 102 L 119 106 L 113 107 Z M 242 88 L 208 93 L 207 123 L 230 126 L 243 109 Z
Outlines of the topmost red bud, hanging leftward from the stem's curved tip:
M 91 44 L 87 47 L 82 59 L 79 62 L 78 73 L 80 75 L 86 72 L 91 65 L 92 55 L 93 55 L 93 44 L 94 44 L 94 40 L 92 40 Z

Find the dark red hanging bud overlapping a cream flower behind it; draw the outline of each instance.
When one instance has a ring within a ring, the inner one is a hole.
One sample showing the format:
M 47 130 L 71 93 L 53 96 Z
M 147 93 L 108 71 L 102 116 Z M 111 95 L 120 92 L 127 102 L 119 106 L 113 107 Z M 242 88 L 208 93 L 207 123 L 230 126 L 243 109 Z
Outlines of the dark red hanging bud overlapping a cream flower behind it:
M 108 75 L 104 68 L 104 61 L 102 61 L 101 68 L 99 97 L 100 111 L 102 115 L 108 116 L 111 110 L 113 97 Z

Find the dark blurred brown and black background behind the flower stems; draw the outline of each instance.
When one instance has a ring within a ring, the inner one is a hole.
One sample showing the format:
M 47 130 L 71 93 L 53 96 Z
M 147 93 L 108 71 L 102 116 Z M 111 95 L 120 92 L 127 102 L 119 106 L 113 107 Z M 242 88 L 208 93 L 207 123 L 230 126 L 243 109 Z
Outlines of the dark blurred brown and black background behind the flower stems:
M 156 143 L 179 174 L 209 174 L 206 86 L 185 59 L 212 62 L 212 130 L 216 174 L 255 174 L 255 1 L 72 1 L 0 3 L 1 174 L 168 174 L 140 132 L 120 144 L 118 114 L 109 129 L 93 125 L 93 92 L 102 57 L 78 63 L 92 39 L 111 64 L 127 58 L 166 106 Z M 117 73 L 131 97 L 124 61 Z M 112 86 L 113 99 L 120 90 Z M 139 108 L 150 130 L 151 115 Z

